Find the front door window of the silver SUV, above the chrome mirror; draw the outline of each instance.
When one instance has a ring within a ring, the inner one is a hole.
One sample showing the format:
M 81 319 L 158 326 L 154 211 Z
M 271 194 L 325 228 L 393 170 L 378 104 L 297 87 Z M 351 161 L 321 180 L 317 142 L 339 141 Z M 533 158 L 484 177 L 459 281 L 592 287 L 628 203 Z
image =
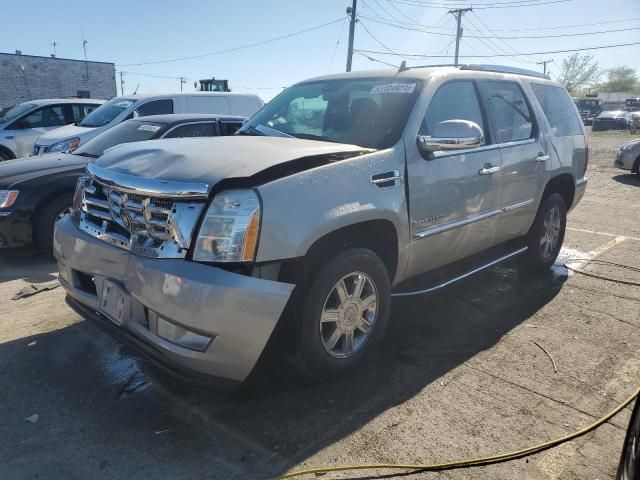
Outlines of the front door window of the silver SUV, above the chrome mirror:
M 442 85 L 431 99 L 420 127 L 420 135 L 431 135 L 433 128 L 446 120 L 475 122 L 485 132 L 486 138 L 482 109 L 473 82 L 462 80 Z

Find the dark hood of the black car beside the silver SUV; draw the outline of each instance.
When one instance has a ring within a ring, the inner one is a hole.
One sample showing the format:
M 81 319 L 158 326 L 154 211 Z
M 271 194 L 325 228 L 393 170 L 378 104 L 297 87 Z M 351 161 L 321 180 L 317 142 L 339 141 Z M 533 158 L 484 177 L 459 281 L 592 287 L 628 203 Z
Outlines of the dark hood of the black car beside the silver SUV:
M 40 157 L 18 158 L 0 163 L 0 187 L 9 187 L 42 175 L 74 170 L 90 159 L 70 153 L 48 153 Z

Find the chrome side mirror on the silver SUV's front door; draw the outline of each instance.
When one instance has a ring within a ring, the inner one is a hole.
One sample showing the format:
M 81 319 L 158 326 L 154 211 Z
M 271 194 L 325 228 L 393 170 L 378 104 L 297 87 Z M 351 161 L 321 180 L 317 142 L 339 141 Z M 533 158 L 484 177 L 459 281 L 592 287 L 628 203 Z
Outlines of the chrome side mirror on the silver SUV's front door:
M 480 125 L 469 120 L 445 120 L 433 127 L 431 135 L 418 135 L 418 149 L 423 155 L 443 150 L 462 150 L 484 144 Z

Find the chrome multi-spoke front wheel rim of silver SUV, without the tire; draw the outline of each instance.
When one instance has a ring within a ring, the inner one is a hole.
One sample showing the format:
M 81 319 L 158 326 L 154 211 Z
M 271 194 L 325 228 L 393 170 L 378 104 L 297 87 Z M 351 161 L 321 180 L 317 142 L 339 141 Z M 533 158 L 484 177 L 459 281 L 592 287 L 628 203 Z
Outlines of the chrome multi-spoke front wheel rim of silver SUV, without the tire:
M 378 315 L 378 291 L 362 272 L 342 277 L 327 295 L 320 317 L 320 339 L 329 355 L 348 358 L 358 352 L 373 331 Z

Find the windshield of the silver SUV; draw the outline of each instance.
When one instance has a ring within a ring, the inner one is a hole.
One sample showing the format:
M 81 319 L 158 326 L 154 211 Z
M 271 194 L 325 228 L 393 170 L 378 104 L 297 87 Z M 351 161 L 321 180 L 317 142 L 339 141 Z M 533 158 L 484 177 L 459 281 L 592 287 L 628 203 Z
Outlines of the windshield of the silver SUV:
M 388 77 L 301 83 L 271 100 L 236 135 L 275 129 L 297 138 L 388 148 L 398 141 L 421 85 Z

